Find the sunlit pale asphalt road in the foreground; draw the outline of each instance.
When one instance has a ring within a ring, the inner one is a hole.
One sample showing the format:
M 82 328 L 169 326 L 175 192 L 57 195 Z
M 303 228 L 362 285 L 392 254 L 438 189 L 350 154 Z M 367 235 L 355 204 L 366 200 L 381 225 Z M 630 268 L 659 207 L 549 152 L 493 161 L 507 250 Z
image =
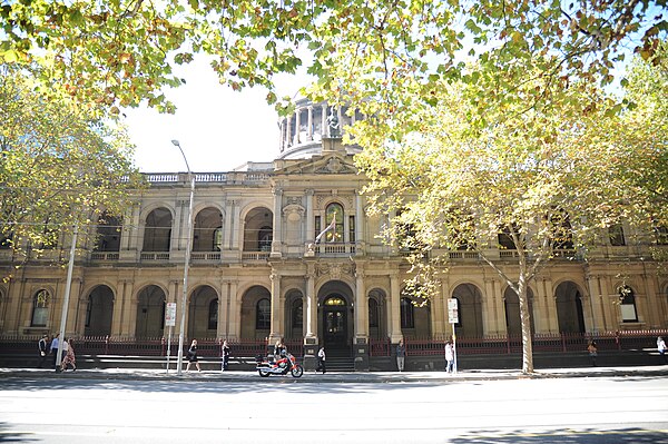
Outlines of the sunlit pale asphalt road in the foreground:
M 0 384 L 8 443 L 668 444 L 665 376 Z

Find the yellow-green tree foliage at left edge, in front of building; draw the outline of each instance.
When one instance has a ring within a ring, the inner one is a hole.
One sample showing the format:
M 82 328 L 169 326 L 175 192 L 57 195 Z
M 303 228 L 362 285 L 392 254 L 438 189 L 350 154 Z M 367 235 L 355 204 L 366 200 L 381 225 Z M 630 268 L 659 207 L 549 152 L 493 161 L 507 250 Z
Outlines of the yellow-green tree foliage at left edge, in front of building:
M 31 255 L 77 224 L 97 225 L 102 211 L 122 215 L 140 184 L 122 128 L 36 95 L 32 81 L 7 69 L 0 76 L 0 238 Z

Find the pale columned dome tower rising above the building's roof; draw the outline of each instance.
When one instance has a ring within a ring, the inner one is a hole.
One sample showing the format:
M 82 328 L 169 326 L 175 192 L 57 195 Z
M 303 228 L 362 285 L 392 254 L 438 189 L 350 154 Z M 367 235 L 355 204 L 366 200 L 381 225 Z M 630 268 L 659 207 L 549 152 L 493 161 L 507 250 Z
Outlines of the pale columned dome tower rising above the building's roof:
M 298 99 L 295 111 L 279 120 L 281 155 L 278 159 L 305 159 L 322 154 L 323 139 L 341 139 L 346 127 L 361 120 L 357 110 L 348 116 L 348 108 L 330 107 L 326 102 L 313 103 Z M 356 154 L 362 149 L 346 145 L 346 152 Z

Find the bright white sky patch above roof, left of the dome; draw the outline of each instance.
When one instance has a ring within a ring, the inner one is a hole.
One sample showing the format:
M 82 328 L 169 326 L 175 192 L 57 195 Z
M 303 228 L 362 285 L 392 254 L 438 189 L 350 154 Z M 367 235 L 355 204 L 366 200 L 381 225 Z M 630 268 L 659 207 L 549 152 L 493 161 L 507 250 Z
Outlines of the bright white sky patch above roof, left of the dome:
M 180 142 L 196 172 L 230 171 L 246 161 L 278 157 L 278 116 L 265 100 L 266 89 L 233 91 L 218 82 L 205 60 L 196 60 L 179 76 L 187 83 L 166 91 L 177 107 L 175 115 L 146 107 L 124 111 L 140 171 L 186 170 L 171 139 Z M 279 97 L 294 96 L 303 86 L 295 77 L 281 79 L 278 85 Z

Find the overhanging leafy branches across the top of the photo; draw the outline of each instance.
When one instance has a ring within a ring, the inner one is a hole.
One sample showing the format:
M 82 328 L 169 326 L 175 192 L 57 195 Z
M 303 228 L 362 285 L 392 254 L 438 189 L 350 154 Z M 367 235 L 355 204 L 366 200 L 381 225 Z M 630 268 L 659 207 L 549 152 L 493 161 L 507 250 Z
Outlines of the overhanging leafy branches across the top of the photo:
M 269 102 L 275 76 L 304 67 L 316 96 L 370 115 L 410 107 L 406 90 L 433 103 L 442 80 L 484 86 L 481 108 L 512 96 L 525 71 L 608 83 L 628 52 L 655 55 L 667 30 L 656 0 L 3 1 L 0 26 L 1 63 L 112 111 L 143 101 L 171 111 L 165 87 L 183 81 L 173 67 L 207 53 L 222 82 L 264 86 Z

